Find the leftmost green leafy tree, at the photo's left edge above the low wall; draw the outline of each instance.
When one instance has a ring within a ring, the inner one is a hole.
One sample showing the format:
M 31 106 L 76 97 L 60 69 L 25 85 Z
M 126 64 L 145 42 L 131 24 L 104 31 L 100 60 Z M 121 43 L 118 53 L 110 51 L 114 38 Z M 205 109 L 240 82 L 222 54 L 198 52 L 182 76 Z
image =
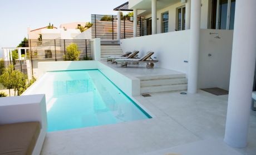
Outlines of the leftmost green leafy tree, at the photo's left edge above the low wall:
M 9 96 L 11 96 L 11 89 L 13 89 L 13 81 L 14 79 L 14 71 L 13 66 L 9 66 L 3 70 L 3 74 L 0 76 L 0 82 L 4 87 L 9 89 Z

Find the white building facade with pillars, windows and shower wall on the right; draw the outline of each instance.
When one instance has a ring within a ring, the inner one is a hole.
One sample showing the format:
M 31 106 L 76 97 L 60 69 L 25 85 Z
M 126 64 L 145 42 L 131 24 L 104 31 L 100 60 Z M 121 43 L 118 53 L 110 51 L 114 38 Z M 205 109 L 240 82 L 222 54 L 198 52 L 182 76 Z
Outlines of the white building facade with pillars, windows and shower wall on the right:
M 145 17 L 147 36 L 120 40 L 124 51 L 155 51 L 160 67 L 186 73 L 191 94 L 207 87 L 229 90 L 224 141 L 238 148 L 247 145 L 255 6 L 254 0 L 130 0 L 134 19 Z

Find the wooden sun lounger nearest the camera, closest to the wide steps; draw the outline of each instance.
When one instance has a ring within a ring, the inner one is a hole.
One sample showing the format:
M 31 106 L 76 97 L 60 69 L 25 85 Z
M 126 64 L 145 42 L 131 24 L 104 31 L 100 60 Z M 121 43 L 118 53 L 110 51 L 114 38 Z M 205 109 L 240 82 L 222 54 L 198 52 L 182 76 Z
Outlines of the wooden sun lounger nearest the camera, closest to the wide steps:
M 157 63 L 158 60 L 153 60 L 151 56 L 154 52 L 149 51 L 145 56 L 140 59 L 116 59 L 117 63 L 121 63 L 122 67 L 126 67 L 128 63 L 136 64 L 136 63 L 146 63 L 146 68 L 153 68 L 154 63 Z

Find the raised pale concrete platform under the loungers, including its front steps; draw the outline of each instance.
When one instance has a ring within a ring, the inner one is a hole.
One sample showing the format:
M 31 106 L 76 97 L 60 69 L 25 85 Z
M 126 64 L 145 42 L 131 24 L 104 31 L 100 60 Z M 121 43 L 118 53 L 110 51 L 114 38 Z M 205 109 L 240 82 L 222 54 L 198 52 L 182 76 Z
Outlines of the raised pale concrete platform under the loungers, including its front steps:
M 188 87 L 186 75 L 178 71 L 157 67 L 147 69 L 145 64 L 129 64 L 127 68 L 122 68 L 120 64 L 112 64 L 105 60 L 102 60 L 101 63 L 118 71 L 122 75 L 129 77 L 130 79 L 139 79 L 141 94 L 186 90 Z

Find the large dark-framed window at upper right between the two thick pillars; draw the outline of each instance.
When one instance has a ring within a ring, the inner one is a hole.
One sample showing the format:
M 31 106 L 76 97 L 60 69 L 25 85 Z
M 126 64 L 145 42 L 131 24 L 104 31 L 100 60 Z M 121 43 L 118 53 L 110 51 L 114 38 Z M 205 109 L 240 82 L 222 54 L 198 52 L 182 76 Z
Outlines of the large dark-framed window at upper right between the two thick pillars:
M 211 0 L 211 29 L 234 29 L 235 0 Z

